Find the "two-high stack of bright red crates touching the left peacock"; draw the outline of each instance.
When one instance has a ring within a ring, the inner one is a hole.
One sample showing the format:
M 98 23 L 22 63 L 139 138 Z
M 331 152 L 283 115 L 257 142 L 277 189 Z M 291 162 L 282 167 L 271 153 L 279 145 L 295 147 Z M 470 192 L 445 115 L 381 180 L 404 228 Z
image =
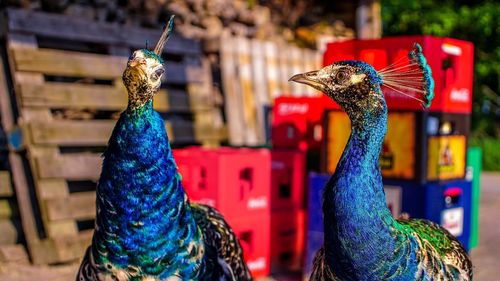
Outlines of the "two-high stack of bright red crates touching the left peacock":
M 238 236 L 252 276 L 270 271 L 271 154 L 266 149 L 188 147 L 174 150 L 193 202 L 219 210 Z

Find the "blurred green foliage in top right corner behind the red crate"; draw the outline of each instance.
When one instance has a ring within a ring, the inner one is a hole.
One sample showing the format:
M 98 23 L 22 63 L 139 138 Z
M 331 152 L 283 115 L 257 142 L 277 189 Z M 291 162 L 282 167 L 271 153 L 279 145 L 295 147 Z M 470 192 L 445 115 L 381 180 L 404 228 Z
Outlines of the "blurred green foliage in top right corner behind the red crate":
M 474 43 L 473 131 L 500 136 L 500 3 L 381 0 L 384 36 L 424 34 Z M 499 147 L 500 148 L 500 147 Z

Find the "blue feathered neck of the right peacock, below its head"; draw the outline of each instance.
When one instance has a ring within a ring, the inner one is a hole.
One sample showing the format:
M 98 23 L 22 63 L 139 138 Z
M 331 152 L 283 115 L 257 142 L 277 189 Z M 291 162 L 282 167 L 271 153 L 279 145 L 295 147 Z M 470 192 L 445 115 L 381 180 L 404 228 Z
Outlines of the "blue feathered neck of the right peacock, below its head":
M 325 250 L 341 279 L 367 280 L 374 265 L 394 249 L 390 232 L 394 220 L 386 207 L 378 164 L 387 108 L 350 119 L 349 141 L 325 188 Z

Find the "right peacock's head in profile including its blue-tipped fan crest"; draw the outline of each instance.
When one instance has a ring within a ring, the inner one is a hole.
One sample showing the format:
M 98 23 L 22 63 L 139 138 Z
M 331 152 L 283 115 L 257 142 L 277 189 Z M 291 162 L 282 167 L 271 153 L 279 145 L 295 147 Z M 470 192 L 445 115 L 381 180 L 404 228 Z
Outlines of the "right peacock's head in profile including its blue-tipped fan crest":
M 382 92 L 395 92 L 417 100 L 424 108 L 434 97 L 434 80 L 422 47 L 415 44 L 407 57 L 376 71 L 371 65 L 346 60 L 317 71 L 297 74 L 290 81 L 324 92 L 346 111 L 351 121 L 380 116 L 387 111 Z

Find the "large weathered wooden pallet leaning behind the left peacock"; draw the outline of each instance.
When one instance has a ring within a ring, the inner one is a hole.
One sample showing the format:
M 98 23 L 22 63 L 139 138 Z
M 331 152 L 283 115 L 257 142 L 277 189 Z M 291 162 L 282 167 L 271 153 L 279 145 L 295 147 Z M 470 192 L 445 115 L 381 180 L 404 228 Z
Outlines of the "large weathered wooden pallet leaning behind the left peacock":
M 92 235 L 100 155 L 127 104 L 127 58 L 161 31 L 20 10 L 3 22 L 14 91 L 0 95 L 2 121 L 26 242 L 35 263 L 72 261 Z M 223 128 L 199 43 L 173 36 L 163 57 L 154 106 L 171 141 L 217 144 Z

